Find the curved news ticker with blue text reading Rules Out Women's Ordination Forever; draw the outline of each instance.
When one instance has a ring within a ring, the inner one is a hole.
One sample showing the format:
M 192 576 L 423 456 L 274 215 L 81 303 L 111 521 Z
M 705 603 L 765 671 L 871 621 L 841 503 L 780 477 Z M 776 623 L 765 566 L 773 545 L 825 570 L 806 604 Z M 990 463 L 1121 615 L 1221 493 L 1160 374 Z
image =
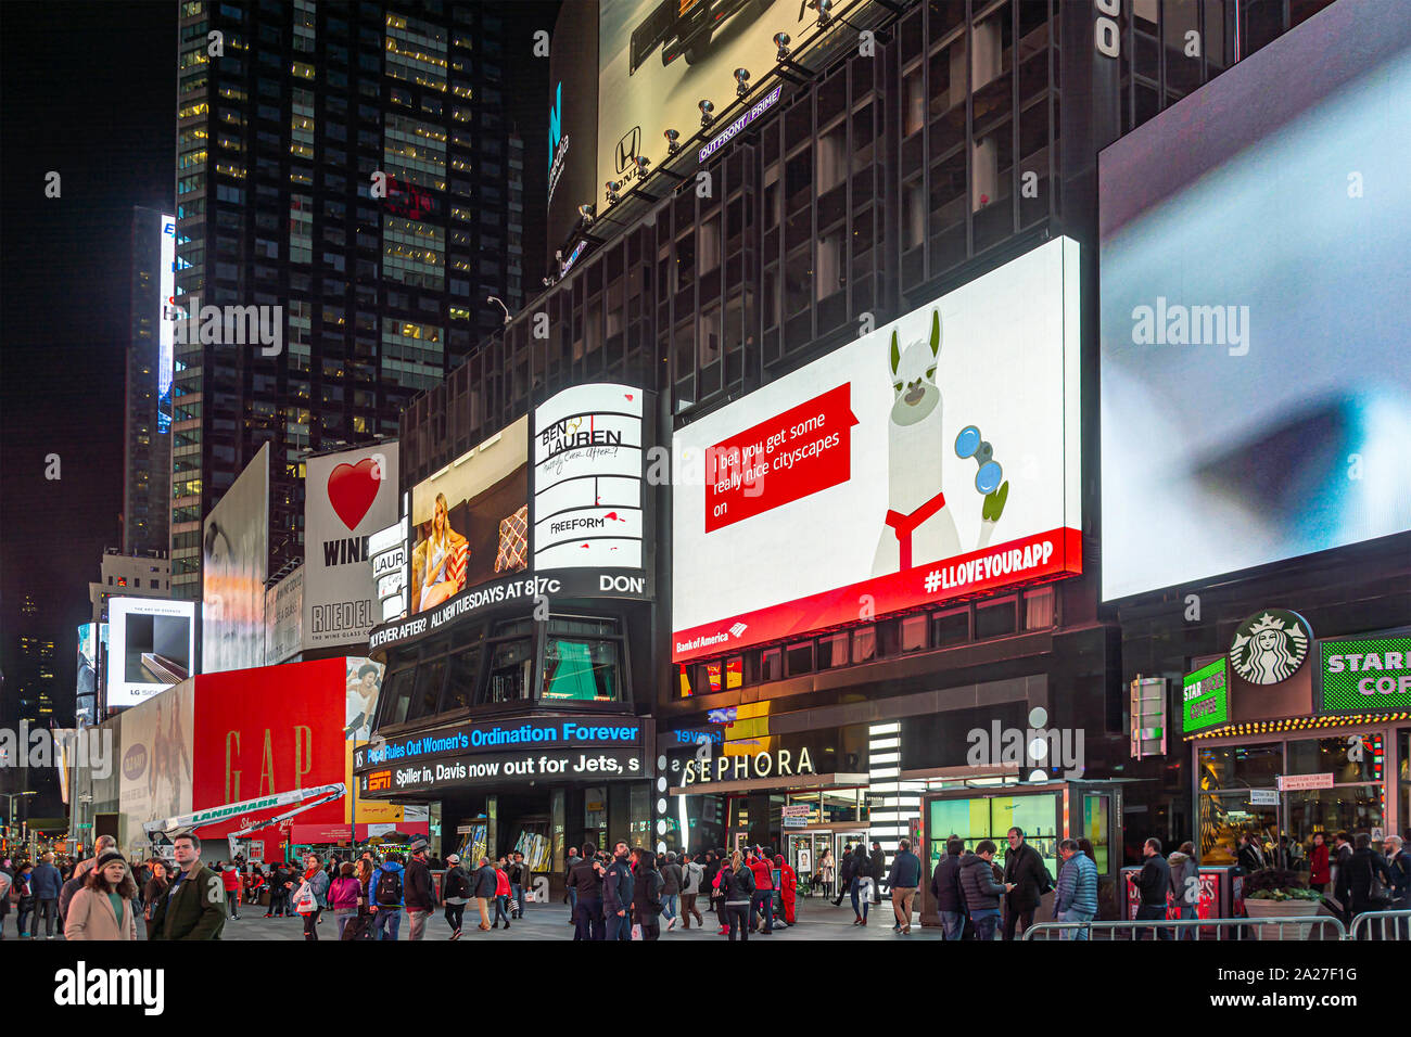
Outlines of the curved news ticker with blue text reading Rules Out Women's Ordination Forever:
M 507 749 L 641 746 L 642 742 L 642 722 L 638 720 L 556 717 L 504 724 L 467 724 L 382 745 L 363 745 L 354 752 L 353 765 L 363 769 L 433 756 L 492 753 Z

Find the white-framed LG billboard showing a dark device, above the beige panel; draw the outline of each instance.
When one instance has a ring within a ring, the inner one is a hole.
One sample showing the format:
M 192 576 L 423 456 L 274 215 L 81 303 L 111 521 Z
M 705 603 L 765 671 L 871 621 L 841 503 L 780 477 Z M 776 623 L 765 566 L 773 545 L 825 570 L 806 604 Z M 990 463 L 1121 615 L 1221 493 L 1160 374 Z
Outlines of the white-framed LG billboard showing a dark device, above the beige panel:
M 107 707 L 135 705 L 192 674 L 196 602 L 109 598 Z

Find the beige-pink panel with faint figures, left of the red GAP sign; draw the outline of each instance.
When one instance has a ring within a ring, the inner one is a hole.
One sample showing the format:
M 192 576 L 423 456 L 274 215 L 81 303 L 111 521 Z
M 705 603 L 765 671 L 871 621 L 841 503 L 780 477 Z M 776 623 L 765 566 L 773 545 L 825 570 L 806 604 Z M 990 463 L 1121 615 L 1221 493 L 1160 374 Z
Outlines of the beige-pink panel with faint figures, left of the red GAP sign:
M 192 810 L 195 696 L 196 680 L 188 679 L 123 714 L 119 807 L 128 852 L 147 845 L 144 823 Z

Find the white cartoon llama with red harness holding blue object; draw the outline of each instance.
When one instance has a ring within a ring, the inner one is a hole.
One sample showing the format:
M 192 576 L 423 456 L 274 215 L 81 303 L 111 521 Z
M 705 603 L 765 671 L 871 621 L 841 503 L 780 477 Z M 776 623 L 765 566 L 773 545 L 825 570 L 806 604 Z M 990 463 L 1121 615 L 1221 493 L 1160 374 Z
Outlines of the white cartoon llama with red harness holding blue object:
M 913 341 L 902 351 L 896 329 L 892 330 L 895 395 L 888 420 L 888 512 L 872 559 L 873 576 L 897 573 L 961 552 L 959 533 L 941 480 L 941 459 L 950 444 L 941 427 L 941 389 L 935 384 L 940 356 L 940 310 L 931 313 L 930 341 Z M 989 443 L 981 442 L 978 429 L 968 426 L 961 433 L 957 453 L 962 457 L 976 454 L 982 473 L 986 467 L 993 468 L 993 481 L 998 481 L 999 466 L 989 460 Z M 981 483 L 976 477 L 976 490 Z M 985 495 L 976 550 L 989 545 L 1007 498 L 1009 483 Z

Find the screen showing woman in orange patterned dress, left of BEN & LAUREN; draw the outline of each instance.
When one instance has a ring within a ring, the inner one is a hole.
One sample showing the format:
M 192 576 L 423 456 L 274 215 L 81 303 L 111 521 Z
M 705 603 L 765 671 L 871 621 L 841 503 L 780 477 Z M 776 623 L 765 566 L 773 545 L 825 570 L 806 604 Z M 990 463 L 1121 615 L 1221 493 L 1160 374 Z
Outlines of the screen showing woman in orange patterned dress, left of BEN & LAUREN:
M 526 415 L 412 488 L 409 615 L 529 564 L 528 461 Z

